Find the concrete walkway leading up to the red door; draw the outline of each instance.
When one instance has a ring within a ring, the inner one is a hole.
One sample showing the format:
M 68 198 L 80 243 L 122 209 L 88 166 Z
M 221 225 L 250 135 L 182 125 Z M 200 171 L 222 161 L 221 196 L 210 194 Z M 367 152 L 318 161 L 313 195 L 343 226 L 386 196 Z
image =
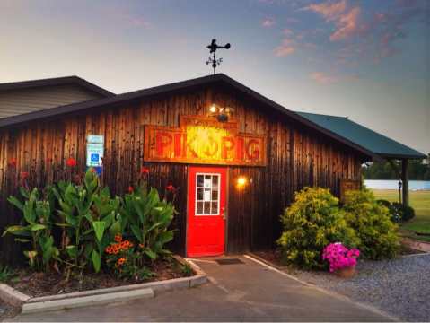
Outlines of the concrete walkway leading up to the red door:
M 387 321 L 336 295 L 304 285 L 244 257 L 241 264 L 197 263 L 212 283 L 154 299 L 20 315 L 14 321 Z

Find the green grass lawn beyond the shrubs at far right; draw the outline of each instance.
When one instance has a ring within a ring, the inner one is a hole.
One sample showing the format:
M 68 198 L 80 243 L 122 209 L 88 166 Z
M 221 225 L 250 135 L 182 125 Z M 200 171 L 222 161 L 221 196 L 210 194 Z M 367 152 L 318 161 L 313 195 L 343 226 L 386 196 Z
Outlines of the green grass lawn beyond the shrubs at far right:
M 399 191 L 396 189 L 373 189 L 380 199 L 399 202 Z M 419 236 L 418 233 L 430 234 L 430 191 L 409 191 L 409 205 L 415 209 L 415 218 L 401 225 L 402 231 L 417 240 L 430 242 L 430 236 Z

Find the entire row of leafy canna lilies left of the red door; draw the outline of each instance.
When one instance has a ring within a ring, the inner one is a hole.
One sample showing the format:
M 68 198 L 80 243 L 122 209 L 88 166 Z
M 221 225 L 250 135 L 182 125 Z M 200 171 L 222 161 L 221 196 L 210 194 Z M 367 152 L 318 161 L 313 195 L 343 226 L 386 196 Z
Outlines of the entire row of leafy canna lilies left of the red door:
M 161 199 L 155 188 L 146 189 L 148 174 L 142 168 L 140 185 L 124 197 L 111 196 L 109 188 L 101 188 L 91 169 L 43 192 L 24 185 L 22 198 L 8 199 L 21 211 L 22 224 L 6 228 L 3 235 L 13 234 L 15 240 L 31 246 L 24 254 L 35 270 L 61 269 L 66 280 L 85 270 L 97 273 L 102 269 L 113 269 L 120 277 L 145 279 L 152 275 L 147 261 L 171 254 L 165 246 L 173 239 L 170 225 L 176 214 L 166 197 Z M 130 245 L 117 257 L 111 248 L 118 234 Z

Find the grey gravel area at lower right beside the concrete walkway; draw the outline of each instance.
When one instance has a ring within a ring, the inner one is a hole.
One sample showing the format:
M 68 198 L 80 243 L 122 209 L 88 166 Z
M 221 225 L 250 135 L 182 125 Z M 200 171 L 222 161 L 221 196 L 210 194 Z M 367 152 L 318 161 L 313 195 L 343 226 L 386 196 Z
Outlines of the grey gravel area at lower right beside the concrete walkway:
M 297 278 L 373 305 L 401 320 L 430 321 L 430 255 L 359 261 L 357 275 L 342 279 L 322 272 L 288 272 Z

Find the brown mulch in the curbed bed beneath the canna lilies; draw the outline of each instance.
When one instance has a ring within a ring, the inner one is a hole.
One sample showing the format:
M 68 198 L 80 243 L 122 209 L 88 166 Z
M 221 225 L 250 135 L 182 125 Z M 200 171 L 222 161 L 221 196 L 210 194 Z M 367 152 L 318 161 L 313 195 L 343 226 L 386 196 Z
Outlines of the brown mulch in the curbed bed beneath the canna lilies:
M 149 279 L 119 280 L 107 273 L 71 276 L 66 282 L 64 275 L 57 273 L 35 273 L 28 269 L 18 271 L 18 277 L 9 282 L 13 288 L 32 297 L 56 295 L 66 292 L 83 292 L 99 288 L 116 287 L 127 284 L 149 283 L 187 276 L 182 265 L 175 259 L 157 260 L 150 269 L 155 276 Z

